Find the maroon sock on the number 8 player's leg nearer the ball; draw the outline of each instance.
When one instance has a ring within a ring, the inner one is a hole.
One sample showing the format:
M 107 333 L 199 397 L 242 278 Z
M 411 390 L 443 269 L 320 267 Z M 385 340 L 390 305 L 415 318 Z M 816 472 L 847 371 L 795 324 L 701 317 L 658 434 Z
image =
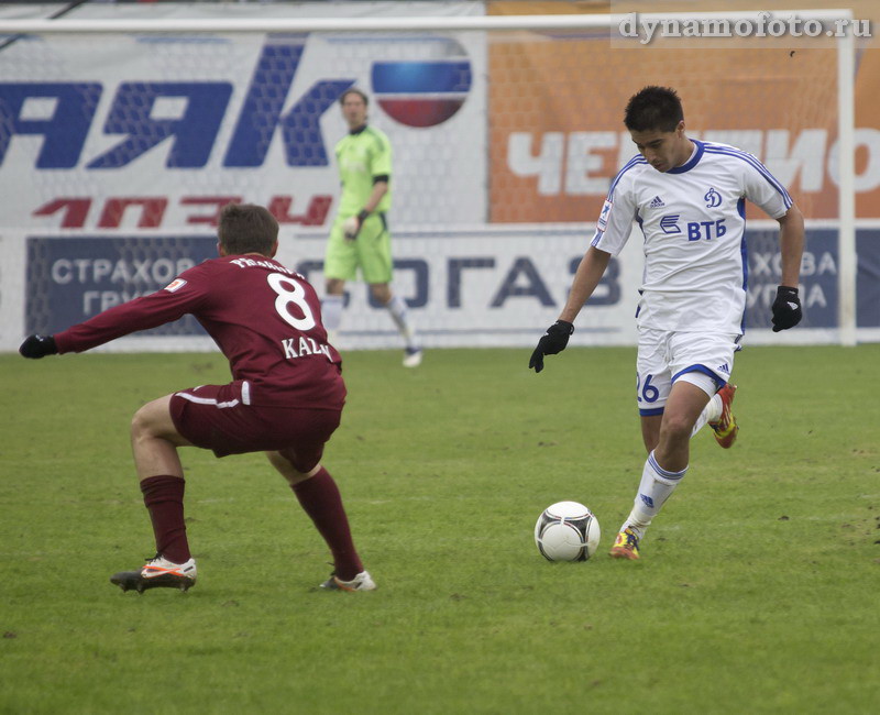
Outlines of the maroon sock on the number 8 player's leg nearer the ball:
M 349 517 L 342 506 L 342 497 L 330 473 L 320 471 L 305 482 L 294 484 L 296 498 L 306 514 L 311 517 L 316 528 L 330 547 L 337 575 L 342 581 L 351 581 L 364 570 L 349 529 Z

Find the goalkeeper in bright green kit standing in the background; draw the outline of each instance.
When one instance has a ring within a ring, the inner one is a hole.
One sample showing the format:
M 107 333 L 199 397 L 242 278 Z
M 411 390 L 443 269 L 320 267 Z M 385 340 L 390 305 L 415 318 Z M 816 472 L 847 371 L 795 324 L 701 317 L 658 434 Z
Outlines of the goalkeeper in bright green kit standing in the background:
M 339 103 L 349 133 L 336 146 L 342 197 L 324 256 L 323 324 L 330 342 L 336 342 L 342 322 L 345 282 L 354 280 L 360 267 L 373 298 L 385 306 L 406 341 L 404 365 L 416 367 L 421 364 L 421 344 L 407 317 L 406 302 L 391 289 L 387 211 L 392 204 L 392 146 L 383 132 L 367 127 L 369 100 L 364 92 L 348 89 Z

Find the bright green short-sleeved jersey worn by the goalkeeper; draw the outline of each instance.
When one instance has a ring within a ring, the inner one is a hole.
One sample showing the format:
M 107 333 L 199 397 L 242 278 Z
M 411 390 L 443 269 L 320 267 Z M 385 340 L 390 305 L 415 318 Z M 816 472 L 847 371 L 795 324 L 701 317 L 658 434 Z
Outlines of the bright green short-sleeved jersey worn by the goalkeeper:
M 342 180 L 339 216 L 355 216 L 364 208 L 376 176 L 388 177 L 388 190 L 375 211 L 387 211 L 392 205 L 392 145 L 385 133 L 369 125 L 350 132 L 337 143 L 336 153 Z

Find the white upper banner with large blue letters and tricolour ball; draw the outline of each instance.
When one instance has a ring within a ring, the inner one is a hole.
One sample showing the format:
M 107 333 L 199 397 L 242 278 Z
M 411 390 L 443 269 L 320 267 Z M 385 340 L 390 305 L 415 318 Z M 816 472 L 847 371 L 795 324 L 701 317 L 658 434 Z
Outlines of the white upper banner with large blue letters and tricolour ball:
M 477 2 L 88 4 L 67 19 L 483 14 Z M 398 222 L 484 221 L 482 33 L 26 35 L 0 55 L 2 224 L 211 228 L 230 200 L 327 227 L 339 198 L 338 99 L 371 98 L 392 142 Z

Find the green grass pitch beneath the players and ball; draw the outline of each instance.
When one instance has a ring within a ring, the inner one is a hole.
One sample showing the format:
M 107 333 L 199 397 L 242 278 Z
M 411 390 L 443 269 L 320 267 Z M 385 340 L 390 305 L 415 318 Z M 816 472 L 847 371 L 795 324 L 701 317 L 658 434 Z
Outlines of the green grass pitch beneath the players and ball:
M 639 562 L 606 556 L 645 460 L 635 350 L 345 355 L 324 464 L 374 593 L 319 591 L 320 538 L 261 455 L 183 450 L 189 593 L 123 594 L 151 557 L 129 447 L 144 402 L 219 355 L 0 356 L 2 713 L 875 713 L 880 345 L 748 348 Z M 597 515 L 553 564 L 541 510 Z

